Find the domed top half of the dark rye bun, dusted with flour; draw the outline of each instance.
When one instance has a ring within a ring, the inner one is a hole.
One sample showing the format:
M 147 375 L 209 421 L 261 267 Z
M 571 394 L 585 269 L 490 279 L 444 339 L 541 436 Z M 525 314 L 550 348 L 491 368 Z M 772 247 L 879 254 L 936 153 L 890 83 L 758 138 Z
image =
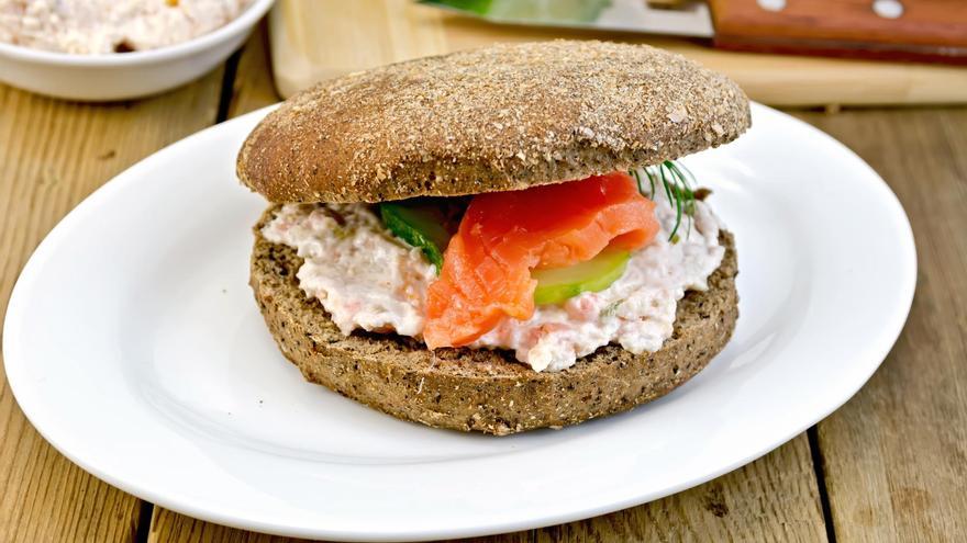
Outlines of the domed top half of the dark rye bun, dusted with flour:
M 324 81 L 238 154 L 270 202 L 382 202 L 523 189 L 658 163 L 748 128 L 735 82 L 645 45 L 556 41 Z

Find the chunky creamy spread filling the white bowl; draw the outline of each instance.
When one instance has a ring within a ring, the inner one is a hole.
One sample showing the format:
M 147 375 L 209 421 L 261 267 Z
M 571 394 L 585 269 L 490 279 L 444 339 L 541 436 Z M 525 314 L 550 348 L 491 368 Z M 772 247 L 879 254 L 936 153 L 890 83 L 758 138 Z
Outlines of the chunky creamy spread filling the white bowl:
M 251 0 L 0 0 L 0 42 L 98 55 L 187 42 L 227 24 Z

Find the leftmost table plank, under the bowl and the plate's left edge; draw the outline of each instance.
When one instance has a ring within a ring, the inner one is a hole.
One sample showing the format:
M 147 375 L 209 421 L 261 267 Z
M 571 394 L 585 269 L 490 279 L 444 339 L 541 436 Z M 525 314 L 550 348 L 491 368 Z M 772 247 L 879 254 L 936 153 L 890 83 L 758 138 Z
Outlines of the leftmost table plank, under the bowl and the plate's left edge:
M 84 105 L 0 86 L 0 314 L 34 247 L 80 200 L 214 121 L 221 71 L 133 103 Z M 37 434 L 0 376 L 0 541 L 132 541 L 138 501 Z

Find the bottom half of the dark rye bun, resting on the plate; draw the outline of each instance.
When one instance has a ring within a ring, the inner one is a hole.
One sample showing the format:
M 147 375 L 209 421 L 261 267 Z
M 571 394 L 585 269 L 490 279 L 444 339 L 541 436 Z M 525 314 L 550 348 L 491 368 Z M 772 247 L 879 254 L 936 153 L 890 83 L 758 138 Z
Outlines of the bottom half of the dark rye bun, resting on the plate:
M 678 304 L 675 331 L 655 353 L 598 349 L 562 372 L 535 372 L 497 350 L 438 349 L 412 338 L 356 331 L 343 336 L 315 298 L 299 289 L 302 259 L 255 227 L 249 283 L 282 354 L 310 382 L 394 417 L 437 428 L 503 435 L 575 425 L 625 411 L 697 374 L 732 336 L 738 317 L 732 235 L 707 292 Z

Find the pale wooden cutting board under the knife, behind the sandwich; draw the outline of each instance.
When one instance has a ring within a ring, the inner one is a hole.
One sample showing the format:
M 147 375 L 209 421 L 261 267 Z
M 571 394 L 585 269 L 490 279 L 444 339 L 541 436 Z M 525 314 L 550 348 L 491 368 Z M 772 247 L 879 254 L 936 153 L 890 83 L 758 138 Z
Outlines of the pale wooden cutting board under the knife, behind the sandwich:
M 781 106 L 967 103 L 967 68 L 735 53 L 631 33 L 496 25 L 411 0 L 279 0 L 269 15 L 273 71 L 282 97 L 374 66 L 494 42 L 568 38 L 646 43 L 738 81 Z

